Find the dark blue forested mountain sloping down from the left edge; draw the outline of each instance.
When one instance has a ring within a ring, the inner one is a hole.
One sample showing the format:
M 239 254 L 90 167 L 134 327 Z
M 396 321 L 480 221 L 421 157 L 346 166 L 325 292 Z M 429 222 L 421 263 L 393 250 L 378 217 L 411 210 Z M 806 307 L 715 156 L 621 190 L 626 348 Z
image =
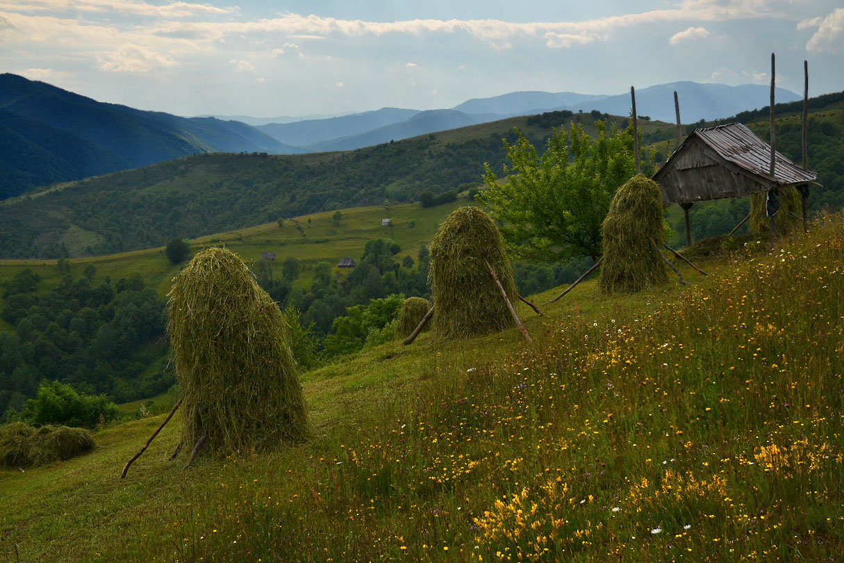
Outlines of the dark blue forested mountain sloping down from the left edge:
M 207 152 L 306 151 L 246 123 L 140 111 L 0 74 L 0 198 Z

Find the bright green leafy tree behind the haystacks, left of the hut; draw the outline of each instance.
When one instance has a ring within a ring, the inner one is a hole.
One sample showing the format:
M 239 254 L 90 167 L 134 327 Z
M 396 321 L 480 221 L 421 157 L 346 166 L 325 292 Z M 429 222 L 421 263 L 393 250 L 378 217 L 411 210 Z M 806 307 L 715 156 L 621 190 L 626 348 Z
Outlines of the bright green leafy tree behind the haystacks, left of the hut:
M 507 160 L 499 183 L 484 165 L 487 189 L 478 201 L 490 209 L 512 256 L 566 261 L 601 254 L 601 222 L 618 187 L 634 173 L 630 130 L 609 131 L 598 122 L 594 143 L 580 125 L 571 125 L 571 149 L 565 130 L 555 131 L 544 154 L 518 130 L 517 143 L 504 142 Z

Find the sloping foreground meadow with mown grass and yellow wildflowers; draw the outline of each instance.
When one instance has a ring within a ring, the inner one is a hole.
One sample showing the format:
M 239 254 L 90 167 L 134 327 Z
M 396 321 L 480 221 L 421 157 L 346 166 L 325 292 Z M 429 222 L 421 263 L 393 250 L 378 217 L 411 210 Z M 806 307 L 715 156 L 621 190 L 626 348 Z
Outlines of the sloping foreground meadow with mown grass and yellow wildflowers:
M 308 372 L 311 436 L 278 452 L 168 463 L 177 414 L 118 479 L 161 414 L 0 472 L 0 560 L 841 560 L 842 218 L 699 265 L 522 308 L 531 344 L 426 333 Z

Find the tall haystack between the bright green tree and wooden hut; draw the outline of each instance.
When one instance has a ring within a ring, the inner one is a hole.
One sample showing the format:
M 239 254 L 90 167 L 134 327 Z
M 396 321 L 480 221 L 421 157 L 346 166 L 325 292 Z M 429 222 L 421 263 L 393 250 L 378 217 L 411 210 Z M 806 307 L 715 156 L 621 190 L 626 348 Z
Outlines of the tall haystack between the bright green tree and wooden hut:
M 646 176 L 630 178 L 619 187 L 603 219 L 603 262 L 598 287 L 603 293 L 632 293 L 668 281 L 662 250 L 663 194 Z

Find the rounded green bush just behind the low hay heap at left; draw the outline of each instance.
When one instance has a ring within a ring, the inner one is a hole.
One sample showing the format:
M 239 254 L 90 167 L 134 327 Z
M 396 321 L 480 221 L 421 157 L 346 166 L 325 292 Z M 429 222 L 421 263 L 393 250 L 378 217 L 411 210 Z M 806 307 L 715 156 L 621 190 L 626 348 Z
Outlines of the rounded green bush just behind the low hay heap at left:
M 60 382 L 44 383 L 35 398 L 24 403 L 20 413 L 12 413 L 10 421 L 29 425 L 68 425 L 95 428 L 117 418 L 117 405 L 105 395 L 86 395 Z

